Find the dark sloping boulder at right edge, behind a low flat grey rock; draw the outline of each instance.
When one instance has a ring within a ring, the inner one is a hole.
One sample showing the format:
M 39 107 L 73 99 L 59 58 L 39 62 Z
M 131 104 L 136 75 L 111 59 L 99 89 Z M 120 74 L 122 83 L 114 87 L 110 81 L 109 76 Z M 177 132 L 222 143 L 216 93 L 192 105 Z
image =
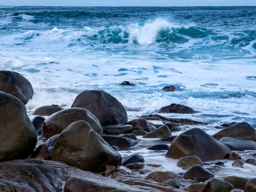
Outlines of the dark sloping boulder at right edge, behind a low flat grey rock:
M 249 124 L 243 122 L 234 124 L 225 130 L 221 130 L 213 135 L 213 138 L 220 140 L 221 138 L 237 138 L 241 140 L 253 140 L 256 142 L 256 130 L 253 129 Z

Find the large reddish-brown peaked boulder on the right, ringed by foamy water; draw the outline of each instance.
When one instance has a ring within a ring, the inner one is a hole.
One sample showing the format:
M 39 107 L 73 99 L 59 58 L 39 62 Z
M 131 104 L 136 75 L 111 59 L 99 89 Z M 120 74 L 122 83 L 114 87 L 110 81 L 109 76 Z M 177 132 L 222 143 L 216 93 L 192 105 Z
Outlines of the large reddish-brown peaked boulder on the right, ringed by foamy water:
M 165 157 L 179 159 L 186 155 L 196 155 L 202 161 L 225 159 L 229 148 L 206 134 L 199 128 L 183 132 L 173 142 Z

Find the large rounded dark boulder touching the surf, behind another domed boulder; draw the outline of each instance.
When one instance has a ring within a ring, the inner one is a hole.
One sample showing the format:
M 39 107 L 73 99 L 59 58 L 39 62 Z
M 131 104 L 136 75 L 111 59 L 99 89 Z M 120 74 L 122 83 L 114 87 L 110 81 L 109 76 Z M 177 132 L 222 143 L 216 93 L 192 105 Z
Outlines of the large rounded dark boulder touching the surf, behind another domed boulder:
M 85 108 L 99 119 L 101 126 L 127 123 L 127 112 L 121 102 L 103 90 L 85 90 L 71 108 Z

